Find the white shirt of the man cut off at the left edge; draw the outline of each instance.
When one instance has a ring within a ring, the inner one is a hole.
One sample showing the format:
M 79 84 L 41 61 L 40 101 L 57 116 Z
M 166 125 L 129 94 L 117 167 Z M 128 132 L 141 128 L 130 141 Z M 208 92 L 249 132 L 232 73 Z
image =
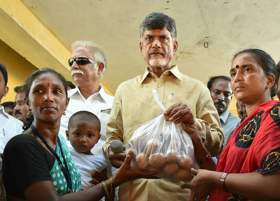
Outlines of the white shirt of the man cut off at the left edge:
M 17 134 L 21 134 L 22 121 L 8 115 L 0 106 L 0 153 L 3 153 L 7 142 Z

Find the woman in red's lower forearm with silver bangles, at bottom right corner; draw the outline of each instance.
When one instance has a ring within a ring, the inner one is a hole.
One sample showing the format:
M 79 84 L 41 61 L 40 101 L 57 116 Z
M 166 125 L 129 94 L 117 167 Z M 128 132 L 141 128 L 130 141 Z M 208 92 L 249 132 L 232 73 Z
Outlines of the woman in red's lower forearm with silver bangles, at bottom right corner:
M 185 183 L 181 188 L 190 188 L 190 201 L 204 201 L 213 188 L 223 189 L 220 179 L 223 172 L 214 172 L 204 169 L 191 169 L 196 177 Z M 257 172 L 243 174 L 228 174 L 225 179 L 225 188 L 228 192 L 246 197 L 254 201 L 280 200 L 280 169 L 268 174 Z

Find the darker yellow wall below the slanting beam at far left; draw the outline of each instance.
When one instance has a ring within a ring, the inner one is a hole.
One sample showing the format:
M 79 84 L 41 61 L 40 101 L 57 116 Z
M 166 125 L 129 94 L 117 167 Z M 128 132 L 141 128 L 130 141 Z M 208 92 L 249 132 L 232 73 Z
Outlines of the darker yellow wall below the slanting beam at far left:
M 1 103 L 15 100 L 16 93 L 14 88 L 24 83 L 25 78 L 31 71 L 38 70 L 34 65 L 10 48 L 6 43 L 0 40 L 0 62 L 4 64 L 8 72 L 9 92 L 3 97 Z

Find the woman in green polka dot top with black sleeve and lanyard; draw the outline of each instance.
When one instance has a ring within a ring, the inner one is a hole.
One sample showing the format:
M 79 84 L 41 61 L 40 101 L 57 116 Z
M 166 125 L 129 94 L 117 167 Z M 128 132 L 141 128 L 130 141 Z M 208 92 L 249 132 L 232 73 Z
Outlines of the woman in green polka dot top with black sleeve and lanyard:
M 159 170 L 130 167 L 129 152 L 117 174 L 81 190 L 81 175 L 62 136 L 60 118 L 67 108 L 67 83 L 53 69 L 31 73 L 23 85 L 29 109 L 25 130 L 7 143 L 3 153 L 3 181 L 8 201 L 92 201 L 110 197 L 111 190 L 137 178 L 157 178 Z M 111 195 L 113 196 L 113 195 Z

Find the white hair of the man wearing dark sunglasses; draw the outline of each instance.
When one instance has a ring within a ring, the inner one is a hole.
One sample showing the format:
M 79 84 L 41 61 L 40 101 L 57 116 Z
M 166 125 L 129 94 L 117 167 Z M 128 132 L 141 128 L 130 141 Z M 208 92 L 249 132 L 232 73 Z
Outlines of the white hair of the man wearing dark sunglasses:
M 106 64 L 107 64 L 104 50 L 99 48 L 98 45 L 96 45 L 92 41 L 74 41 L 71 44 L 71 50 L 73 51 L 74 48 L 76 48 L 77 46 L 89 48 L 90 52 L 94 55 L 95 60 L 98 62 L 102 62 L 104 64 L 104 69 L 100 75 L 100 79 L 103 78 L 105 70 L 106 70 Z M 97 64 L 94 64 L 94 69 L 96 69 L 96 66 L 97 66 Z

